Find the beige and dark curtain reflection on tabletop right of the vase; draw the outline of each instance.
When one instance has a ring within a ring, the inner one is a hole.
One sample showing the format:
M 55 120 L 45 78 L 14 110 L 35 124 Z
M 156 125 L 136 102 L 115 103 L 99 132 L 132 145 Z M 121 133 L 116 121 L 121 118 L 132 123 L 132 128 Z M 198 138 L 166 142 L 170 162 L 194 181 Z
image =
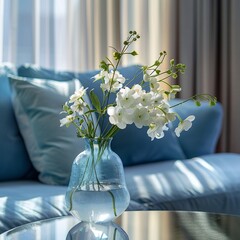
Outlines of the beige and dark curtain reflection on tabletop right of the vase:
M 205 212 L 146 211 L 125 213 L 118 224 L 131 240 L 240 239 L 238 216 Z

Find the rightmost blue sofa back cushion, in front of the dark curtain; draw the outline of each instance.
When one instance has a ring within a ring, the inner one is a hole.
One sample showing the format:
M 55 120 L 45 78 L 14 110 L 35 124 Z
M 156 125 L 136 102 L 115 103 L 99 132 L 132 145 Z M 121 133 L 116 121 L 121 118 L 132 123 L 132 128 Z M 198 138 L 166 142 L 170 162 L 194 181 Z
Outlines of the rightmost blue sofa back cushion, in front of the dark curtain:
M 181 101 L 174 99 L 171 101 L 171 105 Z M 193 101 L 189 101 L 173 109 L 183 119 L 189 115 L 196 117 L 192 128 L 187 132 L 182 132 L 178 138 L 186 157 L 192 158 L 214 153 L 222 127 L 223 110 L 221 104 L 217 103 L 216 106 L 210 107 L 207 102 L 203 102 L 200 107 L 196 107 Z M 173 123 L 174 129 L 177 124 L 177 121 Z

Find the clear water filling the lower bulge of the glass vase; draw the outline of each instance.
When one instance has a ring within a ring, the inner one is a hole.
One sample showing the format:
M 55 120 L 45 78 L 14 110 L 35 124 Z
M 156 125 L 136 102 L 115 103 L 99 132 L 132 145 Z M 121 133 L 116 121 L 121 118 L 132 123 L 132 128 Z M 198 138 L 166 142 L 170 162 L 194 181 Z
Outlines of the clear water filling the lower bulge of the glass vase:
M 129 204 L 125 186 L 95 184 L 88 189 L 76 189 L 72 193 L 71 214 L 87 222 L 107 222 L 121 215 Z M 96 189 L 98 189 L 96 191 Z

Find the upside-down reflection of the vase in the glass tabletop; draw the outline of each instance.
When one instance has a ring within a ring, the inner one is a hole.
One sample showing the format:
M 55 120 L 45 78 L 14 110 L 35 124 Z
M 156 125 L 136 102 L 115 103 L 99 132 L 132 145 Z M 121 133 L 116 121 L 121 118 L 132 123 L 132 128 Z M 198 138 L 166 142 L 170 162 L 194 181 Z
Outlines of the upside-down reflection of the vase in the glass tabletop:
M 113 222 L 80 222 L 67 234 L 66 240 L 129 240 L 124 230 Z

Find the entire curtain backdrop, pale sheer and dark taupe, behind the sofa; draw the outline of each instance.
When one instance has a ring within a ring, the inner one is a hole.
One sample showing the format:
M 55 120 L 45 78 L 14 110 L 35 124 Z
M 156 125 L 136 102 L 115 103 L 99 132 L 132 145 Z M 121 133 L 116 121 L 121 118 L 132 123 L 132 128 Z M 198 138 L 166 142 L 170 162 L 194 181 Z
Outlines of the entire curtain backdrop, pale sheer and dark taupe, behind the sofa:
M 0 61 L 57 70 L 98 68 L 129 30 L 139 55 L 123 65 L 150 64 L 160 51 L 186 63 L 182 97 L 211 93 L 224 108 L 219 151 L 240 152 L 240 1 L 0 0 Z

